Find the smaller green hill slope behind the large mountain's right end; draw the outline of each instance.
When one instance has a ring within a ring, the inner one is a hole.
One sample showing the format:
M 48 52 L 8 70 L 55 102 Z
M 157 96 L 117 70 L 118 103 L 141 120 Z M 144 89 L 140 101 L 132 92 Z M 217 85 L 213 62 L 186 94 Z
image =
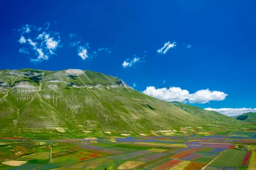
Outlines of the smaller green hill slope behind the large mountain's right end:
M 215 111 L 207 111 L 202 108 L 199 108 L 197 106 L 192 106 L 188 104 L 184 104 L 181 102 L 171 102 L 173 105 L 177 106 L 178 108 L 181 108 L 183 111 L 186 111 L 187 113 L 192 114 L 193 116 L 202 118 L 207 121 L 212 121 L 212 120 L 231 120 L 229 116 L 225 116 L 221 113 L 215 112 Z

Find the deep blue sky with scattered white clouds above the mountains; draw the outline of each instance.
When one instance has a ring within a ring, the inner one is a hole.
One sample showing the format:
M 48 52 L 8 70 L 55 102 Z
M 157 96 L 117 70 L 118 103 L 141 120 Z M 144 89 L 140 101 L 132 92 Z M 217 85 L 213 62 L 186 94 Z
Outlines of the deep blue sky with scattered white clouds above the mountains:
M 228 115 L 255 111 L 255 7 L 253 0 L 1 1 L 0 69 L 98 71 L 159 99 L 229 108 L 218 110 Z

